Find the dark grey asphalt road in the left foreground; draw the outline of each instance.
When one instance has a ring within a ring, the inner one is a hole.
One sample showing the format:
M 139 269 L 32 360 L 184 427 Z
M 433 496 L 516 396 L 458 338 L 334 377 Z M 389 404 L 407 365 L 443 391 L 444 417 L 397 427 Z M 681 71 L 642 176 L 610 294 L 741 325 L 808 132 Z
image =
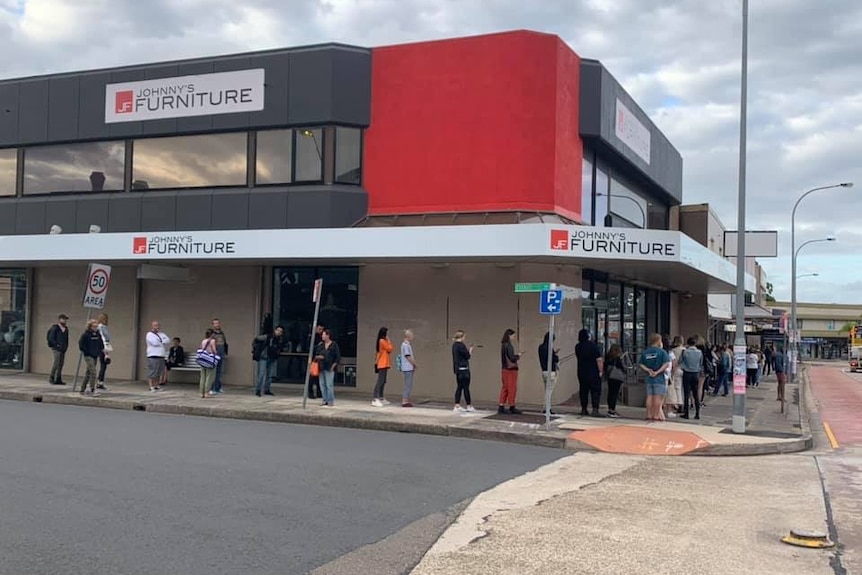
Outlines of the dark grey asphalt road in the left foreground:
M 563 455 L 0 401 L 0 574 L 359 573 L 343 556 L 389 536 L 398 554 L 399 530 Z

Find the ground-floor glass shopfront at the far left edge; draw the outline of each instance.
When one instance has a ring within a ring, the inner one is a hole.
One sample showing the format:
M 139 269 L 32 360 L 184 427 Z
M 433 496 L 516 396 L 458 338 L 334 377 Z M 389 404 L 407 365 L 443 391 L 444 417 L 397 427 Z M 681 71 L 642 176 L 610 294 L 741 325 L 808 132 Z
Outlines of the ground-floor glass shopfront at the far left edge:
M 27 272 L 0 269 L 0 369 L 24 369 Z

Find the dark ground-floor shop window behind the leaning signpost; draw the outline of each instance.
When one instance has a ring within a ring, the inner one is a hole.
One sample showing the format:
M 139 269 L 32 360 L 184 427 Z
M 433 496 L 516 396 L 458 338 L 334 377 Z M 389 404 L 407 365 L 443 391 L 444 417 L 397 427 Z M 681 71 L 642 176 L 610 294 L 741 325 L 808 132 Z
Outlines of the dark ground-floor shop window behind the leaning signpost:
M 274 325 L 285 329 L 286 347 L 278 363 L 276 381 L 302 383 L 314 322 L 311 301 L 314 280 L 323 280 L 318 324 L 332 333 L 342 355 L 336 384 L 356 385 L 359 269 L 352 267 L 281 267 L 273 270 Z

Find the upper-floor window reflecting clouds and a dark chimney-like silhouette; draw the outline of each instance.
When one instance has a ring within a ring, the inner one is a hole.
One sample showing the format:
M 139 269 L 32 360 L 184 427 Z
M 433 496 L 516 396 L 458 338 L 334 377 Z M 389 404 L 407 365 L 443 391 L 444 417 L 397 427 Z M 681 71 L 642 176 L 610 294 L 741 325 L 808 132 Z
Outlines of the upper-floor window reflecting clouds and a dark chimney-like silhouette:
M 121 191 L 125 165 L 125 142 L 27 148 L 24 194 Z

